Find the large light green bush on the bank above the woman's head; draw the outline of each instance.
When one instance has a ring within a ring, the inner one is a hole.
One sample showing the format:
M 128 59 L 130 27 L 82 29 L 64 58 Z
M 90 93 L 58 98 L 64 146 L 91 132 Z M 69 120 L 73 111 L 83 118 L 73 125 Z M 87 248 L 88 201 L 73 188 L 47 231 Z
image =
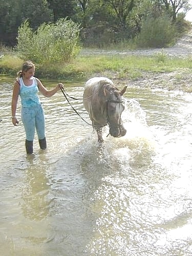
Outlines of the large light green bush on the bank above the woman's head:
M 25 21 L 18 29 L 16 50 L 21 58 L 30 59 L 40 66 L 69 62 L 80 50 L 79 31 L 79 26 L 67 19 L 59 19 L 55 24 L 44 23 L 37 31 Z

